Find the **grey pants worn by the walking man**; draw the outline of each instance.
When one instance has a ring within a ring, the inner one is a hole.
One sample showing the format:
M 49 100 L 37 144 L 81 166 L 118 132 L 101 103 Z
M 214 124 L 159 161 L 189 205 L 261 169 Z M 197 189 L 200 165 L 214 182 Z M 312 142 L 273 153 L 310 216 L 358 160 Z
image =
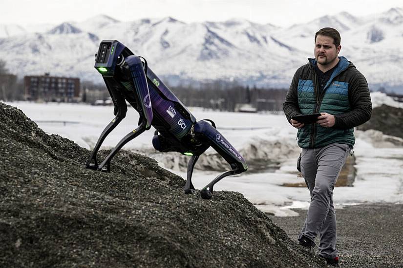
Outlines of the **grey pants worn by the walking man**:
M 320 234 L 319 252 L 325 258 L 337 257 L 336 213 L 333 189 L 351 147 L 332 143 L 322 148 L 302 149 L 301 173 L 311 193 L 311 204 L 301 234 L 315 241 Z

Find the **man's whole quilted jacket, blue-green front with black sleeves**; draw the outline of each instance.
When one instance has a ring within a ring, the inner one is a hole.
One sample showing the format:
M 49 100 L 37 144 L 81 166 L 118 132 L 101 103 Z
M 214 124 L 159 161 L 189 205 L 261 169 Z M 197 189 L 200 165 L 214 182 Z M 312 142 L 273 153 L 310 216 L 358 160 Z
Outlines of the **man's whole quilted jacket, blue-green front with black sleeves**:
M 300 114 L 328 113 L 335 115 L 335 125 L 324 128 L 308 124 L 298 129 L 301 148 L 320 148 L 330 143 L 355 143 L 354 127 L 371 118 L 372 104 L 365 77 L 353 63 L 339 57 L 339 64 L 319 95 L 316 59 L 298 68 L 283 104 L 288 122 Z

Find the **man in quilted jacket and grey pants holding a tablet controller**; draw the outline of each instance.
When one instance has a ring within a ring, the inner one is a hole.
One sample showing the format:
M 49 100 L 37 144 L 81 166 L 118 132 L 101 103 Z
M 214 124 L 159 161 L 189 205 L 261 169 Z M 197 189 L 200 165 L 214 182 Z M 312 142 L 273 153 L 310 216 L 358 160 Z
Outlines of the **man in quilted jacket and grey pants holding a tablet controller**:
M 288 121 L 298 129 L 300 169 L 311 194 L 298 241 L 311 248 L 319 234 L 319 254 L 335 267 L 340 266 L 333 189 L 355 143 L 354 127 L 368 121 L 372 112 L 365 77 L 353 63 L 339 57 L 340 49 L 339 32 L 320 29 L 315 35 L 315 58 L 297 70 L 283 106 Z M 291 119 L 314 113 L 321 114 L 314 124 Z

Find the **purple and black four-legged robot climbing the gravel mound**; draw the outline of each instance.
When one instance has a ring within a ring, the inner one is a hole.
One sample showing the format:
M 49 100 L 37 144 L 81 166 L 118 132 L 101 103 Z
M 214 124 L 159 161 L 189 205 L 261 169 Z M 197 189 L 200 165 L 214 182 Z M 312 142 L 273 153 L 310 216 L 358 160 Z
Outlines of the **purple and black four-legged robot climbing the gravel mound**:
M 193 193 L 191 182 L 194 165 L 210 146 L 231 166 L 214 178 L 201 191 L 203 199 L 212 197 L 213 186 L 222 178 L 245 172 L 245 159 L 216 130 L 212 120 L 196 118 L 167 86 L 151 71 L 144 57 L 134 55 L 117 40 L 103 40 L 95 55 L 95 68 L 104 78 L 114 104 L 115 118 L 100 135 L 85 166 L 97 171 L 110 171 L 112 157 L 130 140 L 153 126 L 156 131 L 153 147 L 160 152 L 178 152 L 190 155 L 185 193 Z M 125 118 L 128 102 L 140 115 L 138 128 L 123 137 L 98 164 L 97 153 L 106 136 Z M 210 123 L 208 123 L 210 122 Z

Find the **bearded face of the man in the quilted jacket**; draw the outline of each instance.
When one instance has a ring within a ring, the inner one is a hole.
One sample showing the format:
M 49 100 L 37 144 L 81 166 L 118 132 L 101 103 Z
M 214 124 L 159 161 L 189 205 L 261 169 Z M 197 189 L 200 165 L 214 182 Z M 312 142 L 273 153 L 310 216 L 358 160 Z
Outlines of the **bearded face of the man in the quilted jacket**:
M 336 47 L 333 38 L 318 35 L 315 41 L 315 58 L 318 64 L 328 65 L 337 59 L 341 45 Z

